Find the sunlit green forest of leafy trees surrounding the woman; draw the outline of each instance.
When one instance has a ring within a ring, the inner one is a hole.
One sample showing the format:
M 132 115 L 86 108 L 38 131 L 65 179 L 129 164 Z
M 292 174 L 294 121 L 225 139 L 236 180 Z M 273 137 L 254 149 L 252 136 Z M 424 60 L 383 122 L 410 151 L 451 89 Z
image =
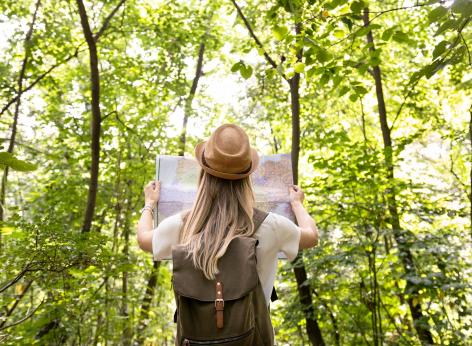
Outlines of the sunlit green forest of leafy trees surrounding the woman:
M 173 345 L 158 154 L 290 153 L 278 345 L 472 344 L 472 1 L 0 2 L 0 344 Z

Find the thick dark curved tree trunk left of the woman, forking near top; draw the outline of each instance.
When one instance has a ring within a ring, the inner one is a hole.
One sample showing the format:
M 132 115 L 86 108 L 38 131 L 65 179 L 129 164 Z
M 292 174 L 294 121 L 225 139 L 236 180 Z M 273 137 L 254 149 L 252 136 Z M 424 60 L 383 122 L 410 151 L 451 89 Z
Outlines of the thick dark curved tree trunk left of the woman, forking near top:
M 98 70 L 98 53 L 97 44 L 90 29 L 87 11 L 82 0 L 77 0 L 79 8 L 80 23 L 82 31 L 87 42 L 90 57 L 90 86 L 92 92 L 92 121 L 91 121 L 91 156 L 92 163 L 90 166 L 90 182 L 87 197 L 87 206 L 85 209 L 85 219 L 82 225 L 82 232 L 89 232 L 92 226 L 92 219 L 95 212 L 95 202 L 97 199 L 98 189 L 98 170 L 100 163 L 100 72 Z

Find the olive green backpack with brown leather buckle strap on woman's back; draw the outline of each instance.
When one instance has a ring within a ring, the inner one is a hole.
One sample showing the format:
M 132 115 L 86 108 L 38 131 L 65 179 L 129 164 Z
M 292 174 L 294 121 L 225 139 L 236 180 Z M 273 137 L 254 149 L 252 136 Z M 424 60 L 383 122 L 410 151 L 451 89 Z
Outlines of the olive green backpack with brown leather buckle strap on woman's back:
M 255 230 L 267 215 L 254 209 Z M 274 345 L 269 309 L 256 270 L 257 244 L 252 237 L 232 240 L 218 260 L 215 280 L 206 279 L 193 266 L 184 246 L 173 247 L 176 346 Z

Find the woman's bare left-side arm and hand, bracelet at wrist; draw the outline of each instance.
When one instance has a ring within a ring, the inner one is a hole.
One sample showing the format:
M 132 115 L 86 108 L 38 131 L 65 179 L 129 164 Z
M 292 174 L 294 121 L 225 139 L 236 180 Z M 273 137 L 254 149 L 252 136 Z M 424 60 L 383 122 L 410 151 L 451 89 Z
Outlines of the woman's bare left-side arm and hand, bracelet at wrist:
M 151 181 L 144 187 L 144 203 L 152 208 L 156 205 L 159 200 L 160 182 Z M 157 211 L 155 211 L 157 212 Z M 149 208 L 143 210 L 141 218 L 138 221 L 136 229 L 136 237 L 138 240 L 139 247 L 148 252 L 152 252 L 152 229 L 153 220 L 152 213 Z

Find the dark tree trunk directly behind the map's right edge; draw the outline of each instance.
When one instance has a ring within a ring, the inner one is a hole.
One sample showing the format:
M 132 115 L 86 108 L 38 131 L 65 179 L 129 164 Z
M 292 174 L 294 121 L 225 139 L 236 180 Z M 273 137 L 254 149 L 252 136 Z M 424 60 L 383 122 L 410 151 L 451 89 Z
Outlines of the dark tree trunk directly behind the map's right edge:
M 300 34 L 301 24 L 296 25 L 296 33 Z M 297 53 L 298 60 L 301 61 L 302 52 Z M 289 80 L 291 111 L 292 111 L 292 172 L 293 183 L 298 184 L 298 158 L 300 156 L 300 74 L 295 75 Z M 307 283 L 307 274 L 302 252 L 299 252 L 294 260 L 293 271 L 297 280 L 298 295 L 302 304 L 303 313 L 306 320 L 306 332 L 310 342 L 314 346 L 324 345 L 323 336 L 315 317 L 315 309 L 311 296 L 311 285 Z

